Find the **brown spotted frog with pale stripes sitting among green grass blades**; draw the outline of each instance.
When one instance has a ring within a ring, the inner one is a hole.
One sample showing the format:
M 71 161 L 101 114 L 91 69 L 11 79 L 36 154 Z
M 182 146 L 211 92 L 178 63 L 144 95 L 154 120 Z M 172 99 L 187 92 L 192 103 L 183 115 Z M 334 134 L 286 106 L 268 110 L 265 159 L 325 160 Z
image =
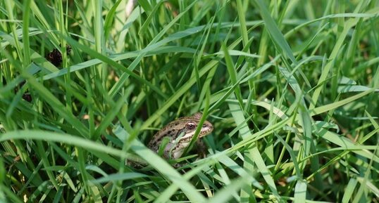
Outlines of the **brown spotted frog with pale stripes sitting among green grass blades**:
M 192 114 L 190 117 L 180 117 L 173 122 L 168 123 L 160 131 L 155 133 L 149 141 L 147 147 L 158 153 L 163 148 L 163 157 L 167 160 L 178 159 L 182 157 L 185 148 L 190 145 L 194 133 L 199 125 L 202 117 L 201 112 Z M 205 145 L 201 138 L 209 135 L 213 131 L 211 122 L 205 120 L 199 131 L 199 137 L 196 141 L 197 150 L 201 157 L 205 157 Z M 168 142 L 165 146 L 161 146 L 163 139 Z

